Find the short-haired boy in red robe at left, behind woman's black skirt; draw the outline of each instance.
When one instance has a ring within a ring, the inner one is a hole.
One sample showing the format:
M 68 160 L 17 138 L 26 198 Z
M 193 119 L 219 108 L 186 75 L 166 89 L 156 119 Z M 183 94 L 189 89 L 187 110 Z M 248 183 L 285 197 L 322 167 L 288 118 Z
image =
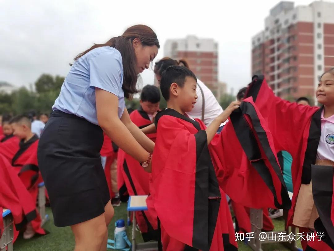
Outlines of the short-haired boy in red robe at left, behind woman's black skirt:
M 30 192 L 32 200 L 37 200 L 38 183 L 42 181 L 39 175 L 37 163 L 38 137 L 31 132 L 31 119 L 25 115 L 19 115 L 10 120 L 13 128 L 13 135 L 19 138 L 19 150 L 14 155 L 11 164 L 18 174 L 23 184 Z M 27 229 L 23 234 L 24 239 L 30 239 L 35 233 L 45 234 L 40 226 L 41 219 L 27 224 Z

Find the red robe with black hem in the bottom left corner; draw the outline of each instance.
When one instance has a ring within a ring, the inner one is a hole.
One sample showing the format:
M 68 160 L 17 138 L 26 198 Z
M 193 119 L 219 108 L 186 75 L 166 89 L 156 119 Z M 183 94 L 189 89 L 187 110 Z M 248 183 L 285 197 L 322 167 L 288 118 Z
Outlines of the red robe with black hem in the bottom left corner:
M 17 176 L 9 161 L 2 155 L 0 155 L 0 184 L 0 207 L 9 209 L 12 213 L 15 225 L 15 241 L 19 234 L 18 231 L 22 227 L 28 222 L 38 219 L 36 202 L 32 199 L 31 194 Z M 39 224 L 40 222 L 39 219 Z M 0 229 L 2 229 L 1 225 Z

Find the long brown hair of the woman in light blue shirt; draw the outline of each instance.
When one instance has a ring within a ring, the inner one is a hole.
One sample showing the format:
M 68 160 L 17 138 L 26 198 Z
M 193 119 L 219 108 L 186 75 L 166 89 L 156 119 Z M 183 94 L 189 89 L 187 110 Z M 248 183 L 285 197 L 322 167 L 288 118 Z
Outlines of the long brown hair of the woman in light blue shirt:
M 116 36 L 107 41 L 105 44 L 94 44 L 88 50 L 77 55 L 74 60 L 79 59 L 89 51 L 103 47 L 110 46 L 118 50 L 122 55 L 123 60 L 123 86 L 124 96 L 129 98 L 132 94 L 137 93 L 136 88 L 138 74 L 136 73 L 136 54 L 133 49 L 132 42 L 135 38 L 139 38 L 143 46 L 154 46 L 160 48 L 159 40 L 155 32 L 148 26 L 138 24 L 131 26 L 124 31 L 121 36 Z

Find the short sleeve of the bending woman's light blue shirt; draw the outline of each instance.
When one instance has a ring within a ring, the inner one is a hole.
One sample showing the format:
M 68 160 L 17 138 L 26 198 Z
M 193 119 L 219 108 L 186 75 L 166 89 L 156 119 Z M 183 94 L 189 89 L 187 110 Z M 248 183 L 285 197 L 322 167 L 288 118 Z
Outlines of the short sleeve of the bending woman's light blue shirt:
M 90 86 L 116 96 L 122 90 L 122 57 L 118 52 L 102 52 L 89 61 Z

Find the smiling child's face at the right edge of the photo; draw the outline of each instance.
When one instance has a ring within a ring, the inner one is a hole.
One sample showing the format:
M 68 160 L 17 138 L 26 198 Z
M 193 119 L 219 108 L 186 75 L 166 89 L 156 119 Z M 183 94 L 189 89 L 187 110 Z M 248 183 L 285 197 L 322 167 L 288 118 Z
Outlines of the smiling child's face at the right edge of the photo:
M 334 75 L 326 73 L 319 81 L 316 90 L 316 97 L 319 103 L 323 105 L 334 104 Z

